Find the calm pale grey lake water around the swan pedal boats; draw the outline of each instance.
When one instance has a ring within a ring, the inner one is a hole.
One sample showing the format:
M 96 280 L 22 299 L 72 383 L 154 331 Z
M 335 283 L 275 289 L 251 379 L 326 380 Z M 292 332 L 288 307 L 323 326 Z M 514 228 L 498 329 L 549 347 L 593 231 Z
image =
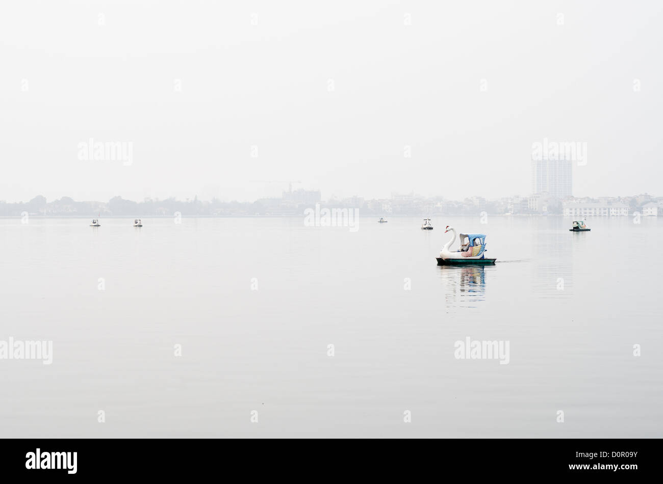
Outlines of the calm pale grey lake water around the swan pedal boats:
M 53 342 L 0 360 L 4 437 L 663 436 L 663 220 L 132 221 L 0 219 L 0 340 Z M 438 267 L 447 224 L 497 264 Z

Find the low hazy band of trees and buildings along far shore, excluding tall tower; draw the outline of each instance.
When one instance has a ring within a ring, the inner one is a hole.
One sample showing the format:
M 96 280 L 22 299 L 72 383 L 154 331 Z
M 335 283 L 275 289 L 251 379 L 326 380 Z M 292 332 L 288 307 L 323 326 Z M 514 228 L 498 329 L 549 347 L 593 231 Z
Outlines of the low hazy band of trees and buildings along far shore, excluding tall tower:
M 444 197 L 422 197 L 414 194 L 392 193 L 387 199 L 348 197 L 327 199 L 320 191 L 303 189 L 284 191 L 281 197 L 261 198 L 253 202 L 218 199 L 202 201 L 198 198 L 186 201 L 170 199 L 145 199 L 131 201 L 116 196 L 108 202 L 76 201 L 63 197 L 47 201 L 34 197 L 25 203 L 0 201 L 0 217 L 78 216 L 102 215 L 105 217 L 170 217 L 174 214 L 194 216 L 300 216 L 313 207 L 355 209 L 363 215 L 643 215 L 658 216 L 663 213 L 663 197 L 641 193 L 628 197 L 567 197 L 555 199 L 546 194 L 527 197 L 501 197 L 485 199 L 468 197 L 462 201 Z M 359 215 L 359 214 L 357 214 Z

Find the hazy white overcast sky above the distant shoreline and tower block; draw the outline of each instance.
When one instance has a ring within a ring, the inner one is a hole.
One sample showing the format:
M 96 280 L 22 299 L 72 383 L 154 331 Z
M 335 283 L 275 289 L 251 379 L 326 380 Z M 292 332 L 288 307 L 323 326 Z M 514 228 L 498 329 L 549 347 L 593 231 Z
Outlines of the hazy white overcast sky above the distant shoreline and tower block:
M 662 46 L 658 1 L 5 1 L 0 199 L 527 195 L 544 138 L 663 195 Z

